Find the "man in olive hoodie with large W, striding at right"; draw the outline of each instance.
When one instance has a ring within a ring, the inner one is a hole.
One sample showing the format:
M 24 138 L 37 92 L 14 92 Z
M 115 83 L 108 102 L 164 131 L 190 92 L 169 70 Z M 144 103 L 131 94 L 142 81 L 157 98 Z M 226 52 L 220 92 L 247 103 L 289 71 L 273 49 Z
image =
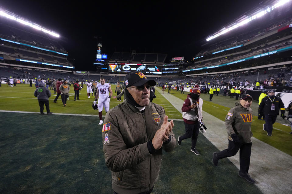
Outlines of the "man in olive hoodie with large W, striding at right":
M 228 149 L 213 153 L 213 163 L 218 165 L 218 160 L 234 156 L 239 151 L 240 169 L 238 175 L 248 182 L 255 183 L 255 180 L 248 174 L 250 154 L 252 149 L 252 96 L 242 95 L 239 104 L 229 110 L 225 118 L 225 127 L 228 135 Z

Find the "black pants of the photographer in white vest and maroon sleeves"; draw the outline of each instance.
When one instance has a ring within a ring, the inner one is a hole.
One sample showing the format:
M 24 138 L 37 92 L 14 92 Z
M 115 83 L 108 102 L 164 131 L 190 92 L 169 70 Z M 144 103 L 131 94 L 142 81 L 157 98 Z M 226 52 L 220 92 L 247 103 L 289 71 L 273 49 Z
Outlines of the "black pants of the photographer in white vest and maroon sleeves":
M 192 149 L 196 148 L 196 143 L 197 143 L 197 139 L 198 139 L 198 135 L 199 135 L 199 127 L 200 124 L 198 121 L 196 121 L 195 124 L 188 124 L 186 122 L 185 123 L 185 130 L 186 133 L 183 134 L 179 139 L 180 140 L 184 140 L 187 138 L 192 138 Z

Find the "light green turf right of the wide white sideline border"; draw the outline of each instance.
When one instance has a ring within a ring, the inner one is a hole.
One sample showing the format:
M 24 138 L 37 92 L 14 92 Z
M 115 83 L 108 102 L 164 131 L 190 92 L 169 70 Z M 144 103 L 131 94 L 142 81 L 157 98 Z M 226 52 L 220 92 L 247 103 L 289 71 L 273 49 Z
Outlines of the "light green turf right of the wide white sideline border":
M 188 92 L 185 92 L 185 94 L 180 94 L 180 91 L 177 92 L 176 90 L 172 90 L 171 94 L 178 97 L 179 99 L 185 100 L 187 98 Z M 235 98 L 231 99 L 229 96 L 223 96 L 222 94 L 219 94 L 218 96 L 214 95 L 212 102 L 209 101 L 209 94 L 201 94 L 201 98 L 204 100 L 203 111 L 217 117 L 222 121 L 225 120 L 228 110 L 234 107 L 235 102 L 239 102 L 239 100 L 236 101 Z M 257 117 L 258 101 L 254 100 L 252 103 L 252 110 L 253 117 L 251 128 L 253 137 L 292 156 L 292 149 L 290 144 L 292 141 L 292 135 L 289 134 L 289 132 L 291 132 L 291 127 L 290 125 L 283 125 L 289 123 L 286 123 L 280 116 L 278 116 L 276 123 L 273 124 L 273 135 L 267 136 L 266 132 L 263 131 L 262 126 L 265 121 L 259 120 Z M 287 115 L 287 112 L 285 112 L 285 115 Z

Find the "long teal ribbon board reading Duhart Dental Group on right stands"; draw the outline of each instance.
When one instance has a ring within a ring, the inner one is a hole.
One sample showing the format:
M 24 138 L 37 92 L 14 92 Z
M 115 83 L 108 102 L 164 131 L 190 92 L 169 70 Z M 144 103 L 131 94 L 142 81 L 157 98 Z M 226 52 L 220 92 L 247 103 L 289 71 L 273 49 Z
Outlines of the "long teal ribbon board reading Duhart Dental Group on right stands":
M 255 56 L 251 56 L 251 57 L 248 57 L 248 58 L 245 58 L 245 59 L 240 59 L 240 60 L 237 60 L 237 61 L 224 63 L 222 65 L 214 65 L 214 66 L 210 66 L 210 67 L 202 67 L 202 68 L 197 68 L 197 69 L 183 70 L 182 72 L 190 72 L 190 71 L 196 71 L 196 70 L 210 69 L 210 68 L 222 67 L 222 66 L 226 66 L 226 65 L 232 65 L 232 64 L 235 64 L 235 63 L 239 63 L 239 62 L 248 61 L 248 60 L 251 60 L 251 59 L 260 58 L 260 57 L 264 57 L 264 56 L 267 56 L 267 55 L 273 55 L 275 53 L 289 51 L 289 50 L 292 50 L 292 46 L 288 46 L 286 48 L 278 49 L 278 50 L 271 51 L 271 52 L 266 52 L 266 53 L 263 53 L 261 55 L 255 55 Z

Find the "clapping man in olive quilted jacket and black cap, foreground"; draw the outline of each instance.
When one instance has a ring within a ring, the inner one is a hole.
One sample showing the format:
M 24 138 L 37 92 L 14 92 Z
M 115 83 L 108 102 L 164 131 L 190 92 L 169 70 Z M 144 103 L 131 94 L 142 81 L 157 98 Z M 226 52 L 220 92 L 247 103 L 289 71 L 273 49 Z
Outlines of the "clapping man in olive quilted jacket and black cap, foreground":
M 127 74 L 127 98 L 106 113 L 103 151 L 114 193 L 150 193 L 158 180 L 162 149 L 171 152 L 176 146 L 173 121 L 167 121 L 162 106 L 149 101 L 155 84 L 141 72 Z

